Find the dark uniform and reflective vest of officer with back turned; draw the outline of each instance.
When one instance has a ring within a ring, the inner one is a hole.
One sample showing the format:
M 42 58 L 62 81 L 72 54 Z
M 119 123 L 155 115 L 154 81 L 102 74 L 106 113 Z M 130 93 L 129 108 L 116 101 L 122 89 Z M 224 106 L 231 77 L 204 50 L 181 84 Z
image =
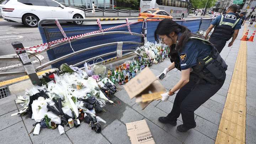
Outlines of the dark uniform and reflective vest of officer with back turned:
M 226 41 L 233 36 L 234 30 L 241 28 L 240 20 L 234 12 L 229 12 L 226 15 L 219 15 L 211 24 L 215 28 L 209 41 L 220 53 L 226 45 Z

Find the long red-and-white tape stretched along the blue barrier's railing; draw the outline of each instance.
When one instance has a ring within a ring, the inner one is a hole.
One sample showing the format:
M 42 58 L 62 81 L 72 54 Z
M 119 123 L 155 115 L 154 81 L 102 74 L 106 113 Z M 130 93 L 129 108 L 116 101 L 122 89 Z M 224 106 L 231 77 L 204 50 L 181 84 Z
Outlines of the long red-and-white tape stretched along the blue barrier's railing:
M 131 23 L 126 23 L 126 24 L 121 24 L 119 26 L 114 26 L 114 27 L 110 27 L 110 28 L 105 28 L 105 29 L 102 29 L 102 32 L 105 32 L 105 31 L 108 31 L 108 30 L 111 30 L 111 29 L 116 29 L 116 28 L 120 28 L 120 27 L 124 27 L 124 26 L 128 26 L 130 24 L 135 24 L 135 23 L 139 23 L 139 22 L 142 22 L 142 21 L 137 21 L 137 22 L 131 22 Z M 94 31 L 94 32 L 89 32 L 89 33 L 84 33 L 84 34 L 79 34 L 79 35 L 75 35 L 75 36 L 72 36 L 72 37 L 67 37 L 67 38 L 63 38 L 63 39 L 58 39 L 58 40 L 54 40 L 54 41 L 50 41 L 48 43 L 44 43 L 44 44 L 40 44 L 40 45 L 36 45 L 36 46 L 32 46 L 32 47 L 29 47 L 29 48 L 17 48 L 15 49 L 16 52 L 21 52 L 23 50 L 30 50 L 30 51 L 35 51 L 35 52 L 40 52 L 40 51 L 43 51 L 43 49 L 47 49 L 49 48 L 49 46 L 53 45 L 53 44 L 57 44 L 57 43 L 62 43 L 62 42 L 65 42 L 65 41 L 69 41 L 69 40 L 73 40 L 73 39 L 77 39 L 77 38 L 82 38 L 86 35 L 90 35 L 90 34 L 95 34 L 95 33 L 100 33 L 101 31 L 98 30 L 98 31 Z M 32 48 L 38 48 L 38 50 L 33 50 Z

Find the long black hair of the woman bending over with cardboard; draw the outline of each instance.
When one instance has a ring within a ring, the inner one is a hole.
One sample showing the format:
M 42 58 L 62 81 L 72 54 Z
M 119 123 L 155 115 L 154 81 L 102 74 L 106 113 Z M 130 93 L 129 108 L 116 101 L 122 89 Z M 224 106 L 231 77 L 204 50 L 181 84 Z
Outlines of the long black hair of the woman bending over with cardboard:
M 177 43 L 176 49 L 173 49 L 173 52 L 181 50 L 183 45 L 185 45 L 188 42 L 190 35 L 192 34 L 187 27 L 182 26 L 171 19 L 164 19 L 159 22 L 155 30 L 155 40 L 159 42 L 158 35 L 166 35 L 167 37 L 169 37 L 169 33 L 171 32 L 175 32 L 175 34 L 182 33 L 178 38 L 180 42 Z

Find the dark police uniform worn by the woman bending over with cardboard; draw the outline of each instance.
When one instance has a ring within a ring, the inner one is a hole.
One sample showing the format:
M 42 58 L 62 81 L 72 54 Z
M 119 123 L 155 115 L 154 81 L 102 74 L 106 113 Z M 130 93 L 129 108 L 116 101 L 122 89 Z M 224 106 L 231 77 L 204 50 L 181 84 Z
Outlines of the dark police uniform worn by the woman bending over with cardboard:
M 177 121 L 181 114 L 183 125 L 192 128 L 195 126 L 194 111 L 217 93 L 224 84 L 227 65 L 213 45 L 196 36 L 191 37 L 187 44 L 177 52 L 177 55 L 180 59 L 174 62 L 178 63 L 180 69 L 191 68 L 193 71 L 190 73 L 190 81 L 178 91 L 172 111 L 166 118 L 170 121 Z M 205 62 L 202 67 L 199 61 Z M 214 70 L 213 67 L 216 69 Z M 203 71 L 205 73 L 201 75 L 200 72 Z M 212 73 L 218 74 L 215 76 Z

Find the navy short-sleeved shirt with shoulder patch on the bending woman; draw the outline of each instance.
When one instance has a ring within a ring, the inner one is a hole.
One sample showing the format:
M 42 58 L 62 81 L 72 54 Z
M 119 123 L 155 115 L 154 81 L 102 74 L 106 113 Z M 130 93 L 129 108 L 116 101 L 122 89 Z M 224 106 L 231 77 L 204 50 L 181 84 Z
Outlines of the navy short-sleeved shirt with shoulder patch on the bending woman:
M 178 51 L 180 57 L 181 70 L 186 70 L 197 64 L 197 59 L 204 59 L 210 54 L 212 46 L 207 45 L 199 39 L 190 39 L 181 50 Z

